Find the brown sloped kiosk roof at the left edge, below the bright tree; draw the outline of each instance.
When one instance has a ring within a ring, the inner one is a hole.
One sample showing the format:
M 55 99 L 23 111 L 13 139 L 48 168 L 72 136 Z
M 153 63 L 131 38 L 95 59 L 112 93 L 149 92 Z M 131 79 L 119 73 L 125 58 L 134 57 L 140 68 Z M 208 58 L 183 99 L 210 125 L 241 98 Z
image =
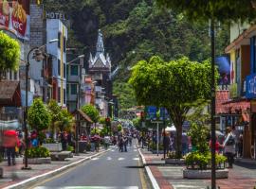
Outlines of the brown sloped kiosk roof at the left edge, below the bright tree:
M 19 81 L 0 81 L 0 106 L 21 106 L 21 90 Z

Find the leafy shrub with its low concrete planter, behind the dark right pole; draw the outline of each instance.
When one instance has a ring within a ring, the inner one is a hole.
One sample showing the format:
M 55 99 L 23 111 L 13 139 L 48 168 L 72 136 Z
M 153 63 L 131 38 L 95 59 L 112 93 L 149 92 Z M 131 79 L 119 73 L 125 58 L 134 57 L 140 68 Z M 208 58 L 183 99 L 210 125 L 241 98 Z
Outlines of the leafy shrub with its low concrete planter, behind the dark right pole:
M 209 129 L 202 124 L 192 123 L 188 135 L 192 138 L 192 146 L 195 149 L 185 156 L 186 168 L 183 177 L 188 179 L 210 179 L 211 177 L 211 154 L 208 144 Z M 226 169 L 226 157 L 216 153 L 216 178 L 229 177 Z

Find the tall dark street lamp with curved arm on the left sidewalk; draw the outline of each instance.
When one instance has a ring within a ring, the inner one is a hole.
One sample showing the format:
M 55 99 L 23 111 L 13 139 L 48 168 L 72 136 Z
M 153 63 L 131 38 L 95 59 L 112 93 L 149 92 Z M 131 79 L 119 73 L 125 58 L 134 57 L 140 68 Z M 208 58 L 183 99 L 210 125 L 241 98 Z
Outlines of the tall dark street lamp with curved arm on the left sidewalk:
M 55 43 L 55 42 L 58 42 L 58 39 L 53 39 L 53 40 L 50 40 L 48 43 Z M 46 44 L 48 44 L 46 43 Z M 42 52 L 41 52 L 41 48 L 45 47 L 46 44 L 42 45 L 42 46 L 39 46 L 39 47 L 33 47 L 29 50 L 29 52 L 27 53 L 27 62 L 26 62 L 26 105 L 25 105 L 25 112 L 24 112 L 24 129 L 25 129 L 25 143 L 26 143 L 26 149 L 25 149 L 25 156 L 24 156 L 24 163 L 25 163 L 25 166 L 22 167 L 22 169 L 31 169 L 31 167 L 28 167 L 27 166 L 27 147 L 28 147 L 28 138 L 27 138 L 27 101 L 28 101 L 28 97 L 27 97 L 27 93 L 28 93 L 28 71 L 29 71 L 29 65 L 30 65 L 30 62 L 29 62 L 29 55 L 31 52 L 35 51 L 34 52 L 34 55 L 33 55 L 33 59 L 37 60 L 37 61 L 40 61 L 40 60 L 43 60 L 44 57 L 42 56 Z

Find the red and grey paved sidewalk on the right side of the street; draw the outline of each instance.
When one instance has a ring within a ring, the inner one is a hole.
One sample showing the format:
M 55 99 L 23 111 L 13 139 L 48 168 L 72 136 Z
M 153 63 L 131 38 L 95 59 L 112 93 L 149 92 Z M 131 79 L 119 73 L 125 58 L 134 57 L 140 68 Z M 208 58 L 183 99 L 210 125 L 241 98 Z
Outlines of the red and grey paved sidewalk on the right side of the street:
M 184 165 L 165 164 L 161 161 L 163 155 L 152 154 L 147 149 L 139 149 L 146 164 L 161 189 L 206 189 L 210 188 L 210 180 L 183 179 L 182 169 Z M 256 186 L 256 165 L 247 163 L 235 163 L 233 169 L 229 169 L 229 179 L 217 180 L 220 189 L 253 189 Z

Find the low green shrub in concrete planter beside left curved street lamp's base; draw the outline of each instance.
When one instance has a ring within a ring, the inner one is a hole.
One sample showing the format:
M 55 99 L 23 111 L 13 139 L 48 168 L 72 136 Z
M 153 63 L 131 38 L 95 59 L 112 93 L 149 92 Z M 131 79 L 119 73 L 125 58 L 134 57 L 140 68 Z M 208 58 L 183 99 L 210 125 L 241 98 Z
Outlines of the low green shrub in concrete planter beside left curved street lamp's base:
M 50 163 L 49 150 L 44 146 L 30 147 L 27 149 L 27 162 L 29 164 Z

